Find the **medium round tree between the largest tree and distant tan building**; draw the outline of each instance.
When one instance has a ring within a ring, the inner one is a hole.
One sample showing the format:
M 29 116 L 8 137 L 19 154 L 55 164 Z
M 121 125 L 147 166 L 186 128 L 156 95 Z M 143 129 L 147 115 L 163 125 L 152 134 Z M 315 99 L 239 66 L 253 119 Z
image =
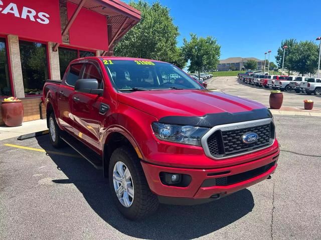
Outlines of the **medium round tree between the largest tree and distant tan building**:
M 191 39 L 184 38 L 182 47 L 186 61 L 190 61 L 189 71 L 197 71 L 200 76 L 201 71 L 213 70 L 219 63 L 221 46 L 212 36 L 197 37 L 191 33 Z

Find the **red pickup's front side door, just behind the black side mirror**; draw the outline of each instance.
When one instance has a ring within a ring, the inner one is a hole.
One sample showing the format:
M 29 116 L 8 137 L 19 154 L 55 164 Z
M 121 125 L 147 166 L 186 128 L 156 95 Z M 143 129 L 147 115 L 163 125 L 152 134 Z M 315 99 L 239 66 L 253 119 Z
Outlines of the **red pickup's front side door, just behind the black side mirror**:
M 89 60 L 83 70 L 83 79 L 94 78 L 104 89 L 102 72 L 96 61 Z M 72 97 L 72 109 L 74 126 L 78 137 L 93 146 L 99 152 L 99 138 L 103 114 L 100 114 L 102 96 L 83 92 L 74 92 Z

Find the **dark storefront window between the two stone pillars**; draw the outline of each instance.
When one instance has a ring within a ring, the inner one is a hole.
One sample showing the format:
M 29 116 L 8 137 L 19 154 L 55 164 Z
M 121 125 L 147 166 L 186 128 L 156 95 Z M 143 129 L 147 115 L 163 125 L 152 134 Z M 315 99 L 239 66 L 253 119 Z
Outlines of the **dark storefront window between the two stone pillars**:
M 25 95 L 40 95 L 48 79 L 46 45 L 38 42 L 19 41 Z

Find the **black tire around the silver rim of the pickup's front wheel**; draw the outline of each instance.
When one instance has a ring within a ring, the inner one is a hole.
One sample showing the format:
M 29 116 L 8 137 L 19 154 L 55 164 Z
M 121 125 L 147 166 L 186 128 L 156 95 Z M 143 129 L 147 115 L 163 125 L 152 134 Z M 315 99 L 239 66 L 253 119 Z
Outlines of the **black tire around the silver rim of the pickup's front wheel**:
M 113 169 L 118 161 L 127 166 L 132 179 L 134 196 L 132 204 L 128 207 L 120 202 L 114 188 Z M 137 154 L 129 146 L 121 146 L 113 151 L 109 162 L 109 186 L 118 210 L 130 220 L 142 219 L 154 213 L 158 208 L 157 196 L 150 191 Z

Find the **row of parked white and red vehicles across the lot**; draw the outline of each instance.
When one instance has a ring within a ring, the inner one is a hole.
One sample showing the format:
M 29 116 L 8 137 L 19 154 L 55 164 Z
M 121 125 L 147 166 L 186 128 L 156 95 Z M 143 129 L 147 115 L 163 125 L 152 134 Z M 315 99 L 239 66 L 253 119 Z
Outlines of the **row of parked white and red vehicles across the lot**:
M 245 83 L 281 91 L 303 92 L 321 95 L 321 78 L 308 76 L 268 75 L 264 72 L 239 73 L 238 78 Z

